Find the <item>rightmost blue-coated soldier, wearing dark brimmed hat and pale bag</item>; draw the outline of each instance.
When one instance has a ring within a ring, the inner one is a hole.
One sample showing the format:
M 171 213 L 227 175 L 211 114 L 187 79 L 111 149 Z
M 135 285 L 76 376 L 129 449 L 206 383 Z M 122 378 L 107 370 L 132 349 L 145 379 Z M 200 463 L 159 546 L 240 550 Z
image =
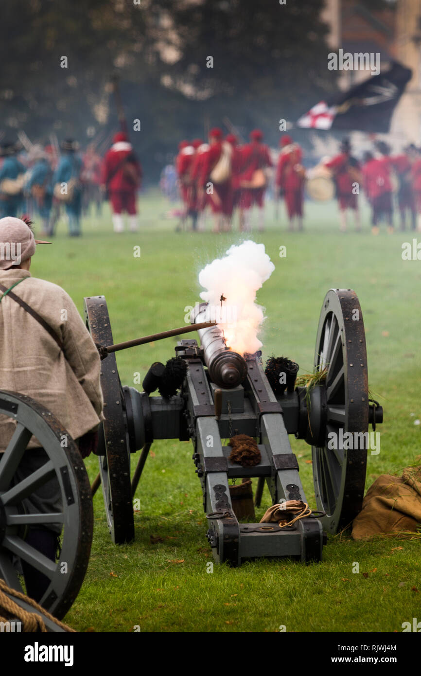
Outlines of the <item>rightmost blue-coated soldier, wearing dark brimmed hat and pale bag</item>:
M 58 184 L 60 193 L 64 197 L 63 201 L 69 219 L 70 237 L 78 237 L 81 234 L 82 187 L 80 172 L 82 171 L 82 160 L 79 155 L 76 155 L 78 147 L 78 143 L 70 139 L 61 143 L 63 154 L 53 176 L 53 184 Z M 57 195 L 56 191 L 55 195 Z

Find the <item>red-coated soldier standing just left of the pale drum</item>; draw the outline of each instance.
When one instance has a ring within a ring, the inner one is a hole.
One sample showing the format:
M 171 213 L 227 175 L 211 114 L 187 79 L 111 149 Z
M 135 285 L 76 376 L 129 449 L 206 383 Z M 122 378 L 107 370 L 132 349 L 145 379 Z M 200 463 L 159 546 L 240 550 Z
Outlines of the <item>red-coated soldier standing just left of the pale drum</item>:
M 283 193 L 289 218 L 289 230 L 294 229 L 297 218 L 298 229 L 303 229 L 303 201 L 305 171 L 301 164 L 303 151 L 298 143 L 285 134 L 279 142 L 280 153 L 276 169 L 276 192 Z

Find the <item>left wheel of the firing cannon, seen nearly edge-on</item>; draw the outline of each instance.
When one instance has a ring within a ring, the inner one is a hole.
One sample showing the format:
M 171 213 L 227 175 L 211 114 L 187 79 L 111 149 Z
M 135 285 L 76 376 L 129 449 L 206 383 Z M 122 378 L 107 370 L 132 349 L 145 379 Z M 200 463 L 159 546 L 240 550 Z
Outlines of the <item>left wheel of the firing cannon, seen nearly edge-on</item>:
M 93 341 L 97 345 L 112 345 L 105 297 L 84 298 L 84 316 Z M 115 544 L 123 544 L 134 539 L 134 516 L 130 485 L 130 440 L 124 394 L 116 355 L 113 353 L 101 362 L 101 389 L 105 420 L 99 434 L 99 473 L 109 533 Z

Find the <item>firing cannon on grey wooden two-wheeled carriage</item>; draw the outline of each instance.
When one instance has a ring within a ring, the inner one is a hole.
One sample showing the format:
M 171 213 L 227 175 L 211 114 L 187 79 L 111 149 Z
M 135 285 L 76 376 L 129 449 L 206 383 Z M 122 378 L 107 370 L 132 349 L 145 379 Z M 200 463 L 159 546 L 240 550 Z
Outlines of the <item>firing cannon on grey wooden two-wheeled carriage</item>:
M 207 539 L 216 562 L 238 566 L 245 559 L 269 556 L 321 560 L 326 533 L 344 529 L 360 511 L 366 477 L 367 448 L 331 449 L 329 435 L 342 431 L 364 437 L 370 423 L 375 427 L 382 422 L 382 408 L 369 399 L 364 323 L 355 292 L 330 289 L 324 298 L 314 355 L 314 371 L 320 377 L 311 387 L 295 387 L 298 366 L 293 362 L 285 368 L 286 386 L 277 387 L 273 380 L 270 384 L 260 352 L 237 354 L 226 347 L 219 327 L 199 328 L 197 322 L 206 318 L 205 304 L 191 316 L 200 342 L 182 339 L 176 345 L 184 364 L 178 391 L 151 396 L 164 368 L 156 363 L 143 381 L 144 391 L 122 387 L 113 348 L 107 350 L 113 338 L 105 297 L 86 297 L 84 316 L 104 357 L 106 419 L 98 449 L 99 479 L 113 541 L 134 538 L 132 499 L 151 443 L 179 439 L 193 444 Z M 223 439 L 233 434 L 257 440 L 258 464 L 230 460 L 232 449 Z M 273 504 L 308 502 L 289 435 L 312 446 L 318 512 L 286 527 L 239 523 L 229 479 L 257 478 L 257 504 L 265 481 Z M 141 456 L 130 481 L 130 454 L 138 450 Z

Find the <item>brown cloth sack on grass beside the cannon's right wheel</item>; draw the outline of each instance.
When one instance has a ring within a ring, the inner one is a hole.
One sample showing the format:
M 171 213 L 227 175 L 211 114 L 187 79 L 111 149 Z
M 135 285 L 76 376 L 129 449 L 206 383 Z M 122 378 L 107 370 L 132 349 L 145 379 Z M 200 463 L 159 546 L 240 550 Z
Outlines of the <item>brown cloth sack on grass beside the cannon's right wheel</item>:
M 353 520 L 352 537 L 416 531 L 420 524 L 421 465 L 405 467 L 401 477 L 384 474 L 374 481 Z

